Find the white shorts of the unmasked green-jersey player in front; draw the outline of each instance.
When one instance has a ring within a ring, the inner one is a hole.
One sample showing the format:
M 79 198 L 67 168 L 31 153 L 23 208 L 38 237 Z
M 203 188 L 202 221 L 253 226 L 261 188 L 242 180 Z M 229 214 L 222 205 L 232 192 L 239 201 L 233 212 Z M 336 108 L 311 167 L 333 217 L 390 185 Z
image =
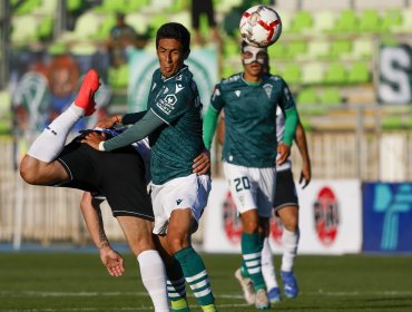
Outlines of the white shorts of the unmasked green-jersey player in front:
M 151 204 L 155 214 L 155 234 L 166 234 L 170 214 L 174 209 L 190 208 L 199 223 L 210 193 L 210 177 L 192 174 L 174 178 L 163 185 L 151 184 Z

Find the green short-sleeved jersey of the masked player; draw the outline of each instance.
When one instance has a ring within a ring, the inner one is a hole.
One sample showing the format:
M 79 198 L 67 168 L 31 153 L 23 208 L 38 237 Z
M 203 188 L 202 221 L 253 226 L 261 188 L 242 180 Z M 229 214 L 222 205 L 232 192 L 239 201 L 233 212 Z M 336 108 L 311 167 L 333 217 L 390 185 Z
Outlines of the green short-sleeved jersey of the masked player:
M 210 105 L 225 111 L 223 159 L 246 167 L 274 167 L 276 160 L 276 107 L 295 109 L 286 82 L 279 76 L 265 75 L 249 84 L 243 72 L 220 81 Z

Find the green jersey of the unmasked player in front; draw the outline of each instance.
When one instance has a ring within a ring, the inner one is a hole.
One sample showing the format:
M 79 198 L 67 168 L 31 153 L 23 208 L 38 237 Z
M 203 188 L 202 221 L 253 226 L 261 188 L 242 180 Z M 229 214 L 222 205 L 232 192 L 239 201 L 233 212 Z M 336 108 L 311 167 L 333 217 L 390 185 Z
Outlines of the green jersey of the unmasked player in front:
M 205 146 L 202 138 L 202 103 L 188 67 L 169 78 L 163 77 L 157 69 L 147 107 L 166 123 L 149 135 L 154 184 L 190 175 L 193 160 Z

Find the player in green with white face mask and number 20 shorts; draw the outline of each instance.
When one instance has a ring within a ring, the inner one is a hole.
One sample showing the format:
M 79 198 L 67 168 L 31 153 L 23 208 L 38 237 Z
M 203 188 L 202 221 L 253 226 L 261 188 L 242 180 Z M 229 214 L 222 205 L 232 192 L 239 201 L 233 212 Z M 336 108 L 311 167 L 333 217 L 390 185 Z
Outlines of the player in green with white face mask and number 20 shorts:
M 225 176 L 241 214 L 243 275 L 249 276 L 255 306 L 268 309 L 261 252 L 274 201 L 276 150 L 282 162 L 291 154 L 297 113 L 286 82 L 265 72 L 267 51 L 242 43 L 244 71 L 219 82 L 204 120 L 204 142 L 210 147 L 218 114 L 225 111 L 223 160 Z M 285 135 L 276 142 L 276 108 L 285 114 Z

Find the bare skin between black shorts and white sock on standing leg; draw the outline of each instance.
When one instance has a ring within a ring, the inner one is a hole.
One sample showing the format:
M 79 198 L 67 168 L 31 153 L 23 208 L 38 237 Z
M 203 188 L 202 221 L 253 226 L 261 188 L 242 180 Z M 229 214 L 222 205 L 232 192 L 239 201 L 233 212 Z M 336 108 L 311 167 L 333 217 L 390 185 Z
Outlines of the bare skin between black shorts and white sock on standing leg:
M 135 255 L 143 251 L 155 250 L 151 237 L 153 222 L 134 216 L 117 216 L 127 243 Z

